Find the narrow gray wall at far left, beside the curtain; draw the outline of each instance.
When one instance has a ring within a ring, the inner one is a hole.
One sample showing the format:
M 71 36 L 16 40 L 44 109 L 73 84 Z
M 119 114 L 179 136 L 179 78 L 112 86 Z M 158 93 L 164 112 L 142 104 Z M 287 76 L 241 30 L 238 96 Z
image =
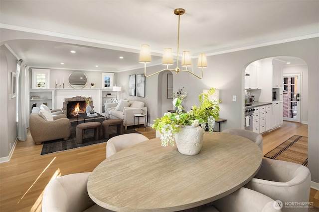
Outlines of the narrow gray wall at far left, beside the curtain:
M 0 46 L 0 55 L 0 159 L 5 161 L 9 159 L 10 150 L 17 139 L 16 98 L 10 99 L 11 72 L 16 72 L 16 58 L 4 45 Z

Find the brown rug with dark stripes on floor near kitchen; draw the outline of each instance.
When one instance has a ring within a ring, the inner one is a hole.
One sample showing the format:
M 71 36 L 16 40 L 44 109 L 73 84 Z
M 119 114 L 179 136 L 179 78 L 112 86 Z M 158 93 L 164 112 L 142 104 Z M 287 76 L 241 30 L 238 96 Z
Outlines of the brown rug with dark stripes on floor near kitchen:
M 307 166 L 308 138 L 303 136 L 293 136 L 264 156 L 271 159 L 284 160 Z

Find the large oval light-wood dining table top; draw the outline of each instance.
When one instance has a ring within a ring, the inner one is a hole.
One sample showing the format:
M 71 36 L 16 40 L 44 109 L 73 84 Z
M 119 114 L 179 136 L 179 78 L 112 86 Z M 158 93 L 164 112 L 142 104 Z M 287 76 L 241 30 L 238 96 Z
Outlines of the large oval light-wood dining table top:
M 226 133 L 204 134 L 197 155 L 152 139 L 101 162 L 88 179 L 90 198 L 121 212 L 172 212 L 222 198 L 258 172 L 262 152 L 252 141 Z

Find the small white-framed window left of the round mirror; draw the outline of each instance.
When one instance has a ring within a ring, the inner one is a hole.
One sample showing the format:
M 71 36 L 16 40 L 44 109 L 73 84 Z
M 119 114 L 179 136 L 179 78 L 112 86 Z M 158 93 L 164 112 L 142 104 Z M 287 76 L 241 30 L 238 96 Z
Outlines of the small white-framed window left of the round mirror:
M 32 69 L 32 88 L 50 88 L 49 69 Z

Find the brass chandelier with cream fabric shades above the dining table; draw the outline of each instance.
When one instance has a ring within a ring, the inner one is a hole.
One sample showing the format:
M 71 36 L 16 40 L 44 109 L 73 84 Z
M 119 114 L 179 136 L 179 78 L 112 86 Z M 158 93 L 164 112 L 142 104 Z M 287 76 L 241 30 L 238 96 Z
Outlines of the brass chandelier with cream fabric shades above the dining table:
M 176 61 L 176 68 L 175 69 L 168 69 L 169 65 L 173 65 L 173 54 L 171 48 L 165 48 L 163 53 L 163 59 L 162 64 L 166 65 L 166 69 L 163 69 L 161 71 L 175 71 L 176 74 L 178 74 L 179 71 L 186 71 L 188 73 L 191 73 L 192 75 L 203 78 L 203 68 L 207 67 L 207 60 L 206 60 L 206 54 L 199 54 L 198 56 L 198 68 L 201 68 L 201 76 L 197 76 L 192 71 L 187 70 L 187 67 L 191 66 L 191 57 L 189 51 L 183 51 L 182 54 L 182 60 L 181 60 L 181 66 L 185 67 L 184 70 L 179 69 L 178 67 L 178 56 L 179 56 L 179 19 L 180 15 L 185 13 L 185 9 L 177 8 L 174 9 L 174 14 L 178 15 L 178 30 L 177 30 L 177 61 Z M 153 76 L 155 74 L 160 73 L 161 71 L 158 71 L 156 73 L 152 73 L 150 75 L 146 74 L 146 64 L 151 63 L 151 51 L 150 46 L 147 44 L 143 44 L 141 47 L 140 52 L 140 63 L 144 63 L 144 74 L 146 77 Z

